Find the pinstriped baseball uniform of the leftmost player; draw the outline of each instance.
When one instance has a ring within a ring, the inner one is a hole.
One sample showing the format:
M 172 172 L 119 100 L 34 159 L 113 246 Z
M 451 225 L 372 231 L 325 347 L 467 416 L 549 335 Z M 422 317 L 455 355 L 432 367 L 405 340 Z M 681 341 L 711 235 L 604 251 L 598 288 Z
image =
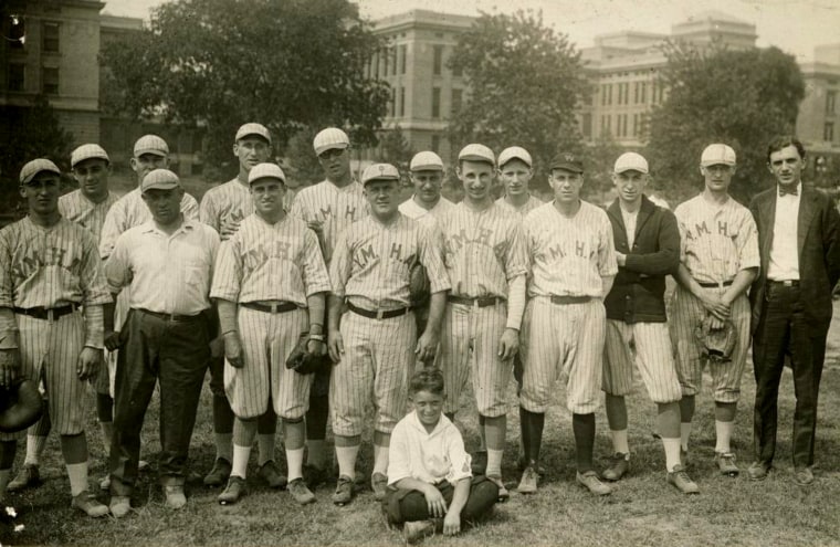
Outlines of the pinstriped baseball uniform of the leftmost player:
M 55 225 L 34 224 L 29 217 L 0 230 L 0 307 L 62 307 L 111 302 L 102 275 L 96 242 L 84 228 L 61 219 Z M 76 311 L 55 320 L 15 313 L 20 329 L 21 377 L 43 379 L 50 417 L 62 435 L 81 433 L 85 418 L 85 382 L 76 375 L 85 344 L 92 339 Z M 90 339 L 85 339 L 90 338 Z M 19 439 L 25 431 L 0 440 Z

